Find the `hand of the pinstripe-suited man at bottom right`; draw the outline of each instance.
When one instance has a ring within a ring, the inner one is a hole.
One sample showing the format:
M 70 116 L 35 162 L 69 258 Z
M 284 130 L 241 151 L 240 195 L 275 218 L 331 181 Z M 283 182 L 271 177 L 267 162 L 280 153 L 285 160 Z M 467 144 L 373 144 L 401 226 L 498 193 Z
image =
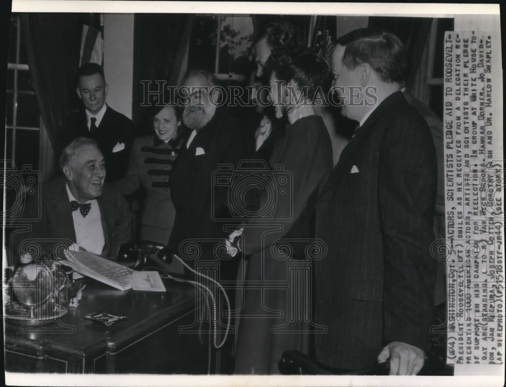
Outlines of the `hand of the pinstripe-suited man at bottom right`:
M 424 366 L 425 352 L 405 342 L 392 341 L 378 355 L 378 362 L 390 358 L 390 375 L 416 375 Z

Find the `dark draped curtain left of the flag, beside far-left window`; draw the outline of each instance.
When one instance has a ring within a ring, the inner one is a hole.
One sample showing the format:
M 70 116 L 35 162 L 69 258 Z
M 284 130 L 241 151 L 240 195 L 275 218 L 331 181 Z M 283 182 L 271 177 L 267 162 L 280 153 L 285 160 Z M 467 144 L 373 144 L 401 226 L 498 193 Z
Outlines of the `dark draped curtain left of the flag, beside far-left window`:
M 79 61 L 81 14 L 20 14 L 28 65 L 37 96 L 41 128 L 40 158 L 46 160 L 43 179 L 54 170 L 53 149 L 63 121 L 75 105 L 74 74 Z M 43 136 L 47 134 L 47 139 Z M 49 143 L 48 141 L 49 140 Z M 51 146 L 48 146 L 51 145 Z

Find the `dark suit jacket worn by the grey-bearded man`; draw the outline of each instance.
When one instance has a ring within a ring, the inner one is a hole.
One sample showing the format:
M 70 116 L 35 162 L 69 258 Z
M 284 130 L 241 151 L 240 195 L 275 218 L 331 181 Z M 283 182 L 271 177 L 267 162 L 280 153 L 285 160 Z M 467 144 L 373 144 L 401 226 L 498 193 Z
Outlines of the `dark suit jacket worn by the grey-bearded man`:
M 191 131 L 190 131 L 191 132 Z M 214 117 L 201 128 L 190 147 L 183 143 L 171 174 L 171 195 L 176 220 L 169 245 L 179 250 L 188 238 L 226 238 L 223 222 L 212 219 L 212 206 L 218 219 L 230 217 L 228 190 L 217 187 L 213 172 L 219 164 L 237 165 L 244 154 L 244 140 L 237 122 L 218 108 Z M 204 154 L 196 155 L 197 148 Z M 212 200 L 214 190 L 214 200 Z

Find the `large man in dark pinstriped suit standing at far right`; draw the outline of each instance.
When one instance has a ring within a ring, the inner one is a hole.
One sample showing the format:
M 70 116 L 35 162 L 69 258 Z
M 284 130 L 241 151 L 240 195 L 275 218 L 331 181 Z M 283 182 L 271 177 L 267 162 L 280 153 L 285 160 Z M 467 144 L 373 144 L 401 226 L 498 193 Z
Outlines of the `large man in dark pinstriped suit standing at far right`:
M 430 246 L 437 182 L 427 123 L 401 92 L 407 55 L 390 33 L 359 29 L 332 55 L 342 114 L 359 122 L 319 187 L 315 262 L 315 354 L 354 370 L 390 360 L 412 375 L 430 351 L 436 260 Z

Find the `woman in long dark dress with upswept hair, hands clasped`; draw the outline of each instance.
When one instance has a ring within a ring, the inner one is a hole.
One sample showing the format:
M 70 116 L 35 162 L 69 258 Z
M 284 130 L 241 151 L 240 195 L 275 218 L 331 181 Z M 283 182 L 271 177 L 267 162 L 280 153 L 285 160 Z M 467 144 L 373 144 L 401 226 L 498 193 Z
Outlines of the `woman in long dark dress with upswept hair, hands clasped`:
M 246 283 L 257 283 L 248 287 L 243 297 L 234 370 L 237 374 L 278 374 L 284 351 L 307 353 L 309 322 L 290 321 L 289 315 L 296 313 L 293 308 L 303 310 L 304 314 L 310 314 L 311 310 L 304 310 L 303 305 L 289 306 L 291 290 L 281 288 L 280 284 L 288 283 L 288 261 L 307 260 L 304 251 L 298 251 L 300 241 L 312 237 L 311 217 L 304 209 L 310 209 L 311 194 L 332 170 L 330 137 L 312 104 L 323 72 L 315 55 L 303 48 L 273 52 L 265 70 L 270 74 L 270 97 L 276 116 L 286 116 L 289 123 L 269 160 L 276 187 L 274 202 L 268 189 L 260 197 L 259 216 L 272 204 L 266 220 L 269 226 L 248 227 L 246 223 L 228 241 L 232 254 L 232 242 L 245 255 L 251 254 Z M 285 186 L 279 186 L 283 177 L 287 179 Z M 292 253 L 285 259 L 280 258 L 283 254 L 275 243 L 281 238 L 291 245 L 288 250 Z M 308 303 L 306 299 L 300 301 Z

